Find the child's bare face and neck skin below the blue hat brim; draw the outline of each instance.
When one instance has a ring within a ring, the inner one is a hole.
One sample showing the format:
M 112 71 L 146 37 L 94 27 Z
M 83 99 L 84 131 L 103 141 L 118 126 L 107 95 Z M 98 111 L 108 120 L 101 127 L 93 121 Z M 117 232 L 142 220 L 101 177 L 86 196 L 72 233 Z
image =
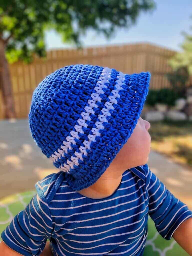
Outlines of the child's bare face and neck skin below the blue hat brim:
M 110 191 L 114 191 L 114 188 L 121 182 L 125 170 L 147 163 L 151 148 L 151 136 L 148 133 L 150 126 L 148 121 L 141 117 L 138 119 L 131 137 L 123 145 L 113 162 L 97 182 L 88 187 L 89 192 L 86 191 L 88 195 L 97 196 L 96 193 L 98 192 L 106 195 L 111 194 Z M 84 193 L 84 190 L 81 193 Z

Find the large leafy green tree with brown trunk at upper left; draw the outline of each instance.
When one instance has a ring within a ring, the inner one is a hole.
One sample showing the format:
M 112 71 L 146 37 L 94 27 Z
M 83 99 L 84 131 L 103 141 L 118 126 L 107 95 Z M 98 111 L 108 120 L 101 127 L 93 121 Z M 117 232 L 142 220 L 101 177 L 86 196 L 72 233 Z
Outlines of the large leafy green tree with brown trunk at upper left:
M 46 29 L 55 29 L 63 42 L 74 43 L 79 49 L 79 35 L 87 28 L 109 38 L 115 27 L 131 26 L 141 11 L 154 7 L 153 0 L 0 0 L 0 86 L 5 118 L 15 116 L 8 62 L 29 63 L 34 54 L 46 57 Z M 103 27 L 104 23 L 108 26 Z

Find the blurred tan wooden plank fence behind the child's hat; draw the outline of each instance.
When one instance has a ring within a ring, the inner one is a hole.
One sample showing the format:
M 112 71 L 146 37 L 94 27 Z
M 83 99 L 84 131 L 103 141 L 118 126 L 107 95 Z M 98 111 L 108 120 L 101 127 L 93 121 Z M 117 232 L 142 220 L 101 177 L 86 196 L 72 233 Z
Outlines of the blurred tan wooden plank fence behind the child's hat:
M 99 65 L 129 74 L 150 71 L 150 89 L 170 87 L 165 74 L 172 69 L 168 66 L 167 60 L 175 53 L 173 50 L 151 44 L 126 44 L 83 50 L 51 50 L 47 52 L 46 59 L 35 57 L 33 63 L 29 65 L 16 62 L 10 65 L 16 116 L 28 118 L 32 93 L 37 85 L 48 74 L 71 64 Z M 0 119 L 3 117 L 0 104 Z

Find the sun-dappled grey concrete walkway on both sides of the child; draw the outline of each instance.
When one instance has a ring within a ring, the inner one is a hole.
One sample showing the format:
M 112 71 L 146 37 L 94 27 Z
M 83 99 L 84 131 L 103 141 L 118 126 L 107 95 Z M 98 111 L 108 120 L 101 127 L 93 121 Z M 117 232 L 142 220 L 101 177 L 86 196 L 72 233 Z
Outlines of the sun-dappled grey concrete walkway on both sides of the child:
M 30 134 L 28 119 L 0 121 L 0 198 L 35 189 L 35 183 L 58 171 Z M 192 210 L 192 169 L 150 152 L 148 166 L 175 197 Z

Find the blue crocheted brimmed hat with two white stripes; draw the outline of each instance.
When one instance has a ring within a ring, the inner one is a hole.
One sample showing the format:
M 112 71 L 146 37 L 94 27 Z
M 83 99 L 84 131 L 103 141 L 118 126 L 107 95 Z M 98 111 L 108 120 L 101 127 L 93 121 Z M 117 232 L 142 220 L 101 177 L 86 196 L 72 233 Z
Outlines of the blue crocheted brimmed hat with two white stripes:
M 51 73 L 34 90 L 32 137 L 74 190 L 94 184 L 127 142 L 150 77 L 77 64 Z

